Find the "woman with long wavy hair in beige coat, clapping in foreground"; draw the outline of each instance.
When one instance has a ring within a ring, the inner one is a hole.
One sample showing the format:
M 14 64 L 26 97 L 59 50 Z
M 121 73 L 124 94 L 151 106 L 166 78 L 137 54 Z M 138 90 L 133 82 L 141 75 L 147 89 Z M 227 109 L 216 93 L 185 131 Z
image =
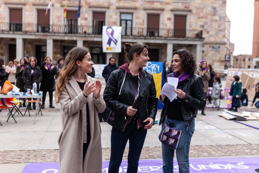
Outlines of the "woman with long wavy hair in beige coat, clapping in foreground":
M 62 173 L 102 172 L 101 127 L 97 112 L 105 110 L 102 84 L 89 77 L 93 62 L 86 47 L 74 47 L 56 81 L 62 132 L 58 139 Z

